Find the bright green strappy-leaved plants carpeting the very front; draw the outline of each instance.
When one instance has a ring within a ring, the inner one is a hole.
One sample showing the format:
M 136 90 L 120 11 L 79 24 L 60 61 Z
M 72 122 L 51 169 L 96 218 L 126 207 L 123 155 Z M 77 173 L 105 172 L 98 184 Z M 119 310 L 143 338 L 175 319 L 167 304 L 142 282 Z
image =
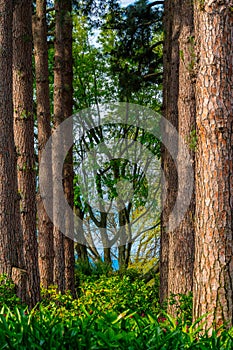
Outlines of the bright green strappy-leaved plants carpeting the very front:
M 0 314 L 1 349 L 232 349 L 232 330 L 201 333 L 194 325 L 180 326 L 170 316 L 139 315 L 125 310 L 82 316 L 62 315 L 56 308 L 40 306 L 25 313 L 6 307 Z

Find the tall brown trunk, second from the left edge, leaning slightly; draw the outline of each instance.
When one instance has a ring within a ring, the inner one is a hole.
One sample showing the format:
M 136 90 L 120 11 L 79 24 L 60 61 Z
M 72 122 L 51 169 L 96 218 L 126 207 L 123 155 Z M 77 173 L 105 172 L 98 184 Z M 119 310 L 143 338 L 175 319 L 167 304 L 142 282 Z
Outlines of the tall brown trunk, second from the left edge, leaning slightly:
M 13 13 L 13 101 L 20 218 L 28 273 L 29 306 L 40 300 L 36 238 L 36 181 L 32 78 L 32 3 L 15 2 Z

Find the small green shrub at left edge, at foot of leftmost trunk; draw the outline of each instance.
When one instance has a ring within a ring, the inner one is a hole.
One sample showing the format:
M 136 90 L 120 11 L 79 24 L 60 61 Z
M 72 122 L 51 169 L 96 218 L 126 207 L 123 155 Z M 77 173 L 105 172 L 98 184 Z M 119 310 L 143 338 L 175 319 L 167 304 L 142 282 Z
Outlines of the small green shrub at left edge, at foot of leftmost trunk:
M 6 275 L 0 275 L 0 307 L 13 307 L 17 304 L 20 304 L 20 299 L 15 294 L 14 283 Z

